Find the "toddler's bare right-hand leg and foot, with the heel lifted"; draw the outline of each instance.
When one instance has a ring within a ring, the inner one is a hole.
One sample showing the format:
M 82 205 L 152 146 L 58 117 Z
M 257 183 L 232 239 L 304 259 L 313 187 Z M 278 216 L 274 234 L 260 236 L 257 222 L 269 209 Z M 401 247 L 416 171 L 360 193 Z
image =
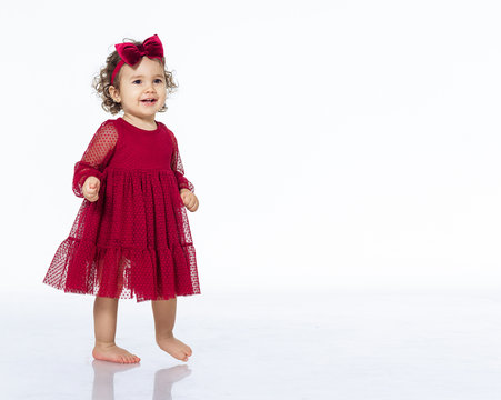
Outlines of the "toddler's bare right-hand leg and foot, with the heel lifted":
M 189 346 L 174 338 L 172 330 L 176 321 L 177 298 L 169 300 L 151 300 L 154 318 L 157 344 L 178 360 L 188 361 L 192 354 Z

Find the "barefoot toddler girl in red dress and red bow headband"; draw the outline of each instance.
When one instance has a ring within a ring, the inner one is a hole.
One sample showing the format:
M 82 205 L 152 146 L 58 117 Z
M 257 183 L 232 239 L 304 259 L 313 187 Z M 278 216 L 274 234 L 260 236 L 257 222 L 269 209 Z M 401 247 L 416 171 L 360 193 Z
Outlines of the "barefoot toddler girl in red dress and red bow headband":
M 174 134 L 154 119 L 177 86 L 157 34 L 114 47 L 94 86 L 102 108 L 123 117 L 102 122 L 74 166 L 72 189 L 83 201 L 43 282 L 96 296 L 96 359 L 140 361 L 114 342 L 118 300 L 136 297 L 151 300 L 158 346 L 188 361 L 192 351 L 172 329 L 177 296 L 200 293 L 184 210 L 199 201 Z

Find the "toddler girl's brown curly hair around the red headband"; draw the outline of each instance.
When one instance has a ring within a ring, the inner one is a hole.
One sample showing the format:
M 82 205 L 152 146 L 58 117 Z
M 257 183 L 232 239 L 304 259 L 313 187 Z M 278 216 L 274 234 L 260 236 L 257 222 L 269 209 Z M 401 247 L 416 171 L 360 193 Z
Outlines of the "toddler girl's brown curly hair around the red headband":
M 126 40 L 130 40 L 130 43 L 133 43 L 136 46 L 141 44 L 142 42 L 124 38 L 123 43 L 126 43 Z M 158 59 L 154 59 L 158 60 Z M 97 96 L 102 99 L 101 107 L 104 111 L 111 112 L 112 114 L 116 114 L 122 110 L 122 106 L 118 102 L 114 102 L 114 100 L 111 98 L 111 94 L 109 92 L 109 88 L 111 86 L 111 74 L 113 73 L 114 67 L 120 61 L 120 56 L 118 54 L 117 50 L 114 50 L 111 54 L 108 56 L 106 66 L 101 69 L 99 74 L 97 74 L 92 80 L 92 88 L 96 90 Z M 162 57 L 162 63 L 166 66 L 166 58 Z M 120 74 L 122 69 L 118 71 L 117 76 L 114 77 L 114 81 L 118 82 L 117 88 L 120 88 Z M 172 93 L 177 88 L 178 84 L 174 82 L 172 72 L 168 71 L 164 67 L 163 72 L 166 73 L 166 86 L 167 86 L 167 94 Z M 159 112 L 166 112 L 167 106 L 163 104 L 162 108 L 159 110 Z

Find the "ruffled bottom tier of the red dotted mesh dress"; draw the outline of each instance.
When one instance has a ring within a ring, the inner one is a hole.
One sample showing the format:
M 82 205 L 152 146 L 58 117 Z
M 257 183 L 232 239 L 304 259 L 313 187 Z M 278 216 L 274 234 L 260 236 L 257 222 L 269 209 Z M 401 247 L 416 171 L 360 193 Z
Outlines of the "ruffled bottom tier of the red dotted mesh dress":
M 43 283 L 138 302 L 200 294 L 192 243 L 172 249 L 102 247 L 70 236 L 59 246 Z

